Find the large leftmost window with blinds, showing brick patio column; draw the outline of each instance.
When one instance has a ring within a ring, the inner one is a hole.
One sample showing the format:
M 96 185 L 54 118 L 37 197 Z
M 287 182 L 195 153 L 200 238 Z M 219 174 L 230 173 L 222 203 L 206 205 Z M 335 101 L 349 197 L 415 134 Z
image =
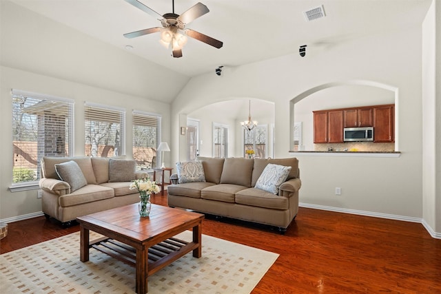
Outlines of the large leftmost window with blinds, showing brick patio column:
M 12 90 L 12 186 L 34 185 L 43 156 L 72 154 L 70 99 Z

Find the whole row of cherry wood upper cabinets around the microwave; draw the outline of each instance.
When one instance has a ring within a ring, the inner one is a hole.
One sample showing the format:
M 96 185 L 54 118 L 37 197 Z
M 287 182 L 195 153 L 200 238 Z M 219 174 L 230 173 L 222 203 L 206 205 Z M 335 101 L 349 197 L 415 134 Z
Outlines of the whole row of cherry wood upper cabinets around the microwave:
M 343 143 L 345 127 L 373 127 L 373 142 L 394 142 L 394 112 L 393 104 L 314 111 L 314 143 Z

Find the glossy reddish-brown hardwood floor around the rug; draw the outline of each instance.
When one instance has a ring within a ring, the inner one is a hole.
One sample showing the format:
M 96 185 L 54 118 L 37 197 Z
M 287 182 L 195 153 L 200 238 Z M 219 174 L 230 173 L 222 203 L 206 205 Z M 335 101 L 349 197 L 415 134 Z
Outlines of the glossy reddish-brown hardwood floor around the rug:
M 167 205 L 167 196 L 152 196 Z M 79 231 L 54 220 L 9 224 L 0 252 Z M 285 235 L 234 220 L 203 220 L 203 233 L 280 254 L 252 293 L 441 293 L 441 240 L 422 224 L 300 207 Z

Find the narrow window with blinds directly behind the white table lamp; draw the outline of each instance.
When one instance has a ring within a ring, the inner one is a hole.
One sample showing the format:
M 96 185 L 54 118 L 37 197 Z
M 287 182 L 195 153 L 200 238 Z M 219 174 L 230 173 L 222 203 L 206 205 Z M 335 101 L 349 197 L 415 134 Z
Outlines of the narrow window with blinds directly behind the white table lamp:
M 136 168 L 152 169 L 157 162 L 162 162 L 161 154 L 156 149 L 161 142 L 161 116 L 145 112 L 133 112 L 133 158 Z

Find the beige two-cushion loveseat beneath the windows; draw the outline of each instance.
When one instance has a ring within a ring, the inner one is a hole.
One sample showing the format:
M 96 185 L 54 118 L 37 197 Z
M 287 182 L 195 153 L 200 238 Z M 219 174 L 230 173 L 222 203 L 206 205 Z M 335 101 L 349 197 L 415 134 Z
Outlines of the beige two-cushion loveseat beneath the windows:
M 61 170 L 56 170 L 60 164 L 69 167 L 64 170 L 64 180 L 59 176 Z M 72 167 L 79 170 L 72 172 Z M 130 181 L 145 178 L 147 173 L 135 170 L 134 160 L 44 157 L 39 182 L 43 213 L 68 225 L 78 216 L 139 202 L 139 192 L 130 190 Z M 78 179 L 83 187 L 78 186 Z M 72 191 L 73 186 L 78 187 Z

